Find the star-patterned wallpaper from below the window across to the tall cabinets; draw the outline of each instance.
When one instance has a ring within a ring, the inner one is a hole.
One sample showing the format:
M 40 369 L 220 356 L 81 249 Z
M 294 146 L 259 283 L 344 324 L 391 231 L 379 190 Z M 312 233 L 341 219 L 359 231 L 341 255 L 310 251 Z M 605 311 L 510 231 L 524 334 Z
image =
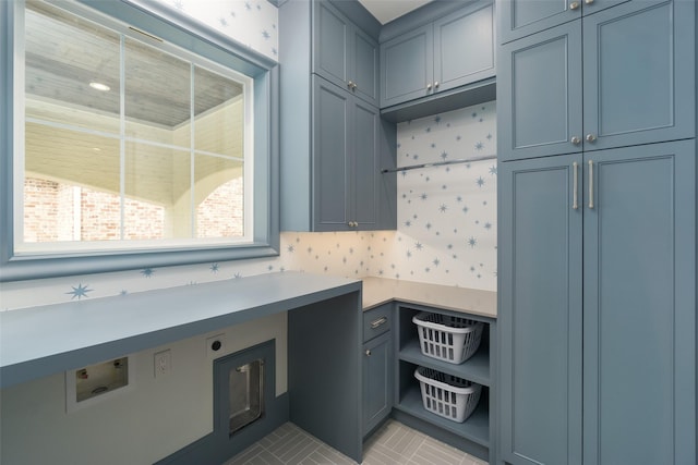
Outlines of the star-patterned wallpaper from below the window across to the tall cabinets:
M 398 167 L 496 154 L 495 103 L 398 125 Z M 496 291 L 496 161 L 398 173 L 397 231 L 284 232 L 280 255 L 0 284 L 0 310 L 279 271 Z

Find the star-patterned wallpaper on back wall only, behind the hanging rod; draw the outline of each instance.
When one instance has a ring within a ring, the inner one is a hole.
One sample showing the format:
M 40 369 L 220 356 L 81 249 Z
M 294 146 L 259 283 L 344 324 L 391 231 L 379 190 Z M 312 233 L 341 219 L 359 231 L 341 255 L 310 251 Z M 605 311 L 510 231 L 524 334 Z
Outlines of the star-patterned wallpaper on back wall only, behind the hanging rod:
M 495 103 L 398 125 L 398 232 L 377 276 L 496 291 Z

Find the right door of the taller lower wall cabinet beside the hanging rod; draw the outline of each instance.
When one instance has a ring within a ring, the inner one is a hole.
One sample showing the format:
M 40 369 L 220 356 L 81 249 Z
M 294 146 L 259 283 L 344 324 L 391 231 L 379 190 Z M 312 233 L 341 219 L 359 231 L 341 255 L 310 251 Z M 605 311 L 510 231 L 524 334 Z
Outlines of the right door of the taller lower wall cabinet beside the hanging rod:
M 378 109 L 360 99 L 351 105 L 351 218 L 362 230 L 377 229 L 378 181 Z

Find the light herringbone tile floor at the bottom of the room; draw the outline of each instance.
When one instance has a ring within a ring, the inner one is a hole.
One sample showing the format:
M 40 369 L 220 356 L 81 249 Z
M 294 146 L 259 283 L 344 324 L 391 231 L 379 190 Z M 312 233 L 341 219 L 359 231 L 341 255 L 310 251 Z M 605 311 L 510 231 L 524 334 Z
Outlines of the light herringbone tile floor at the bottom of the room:
M 356 465 L 318 439 L 287 423 L 224 465 Z M 486 465 L 486 462 L 388 420 L 364 443 L 364 465 Z

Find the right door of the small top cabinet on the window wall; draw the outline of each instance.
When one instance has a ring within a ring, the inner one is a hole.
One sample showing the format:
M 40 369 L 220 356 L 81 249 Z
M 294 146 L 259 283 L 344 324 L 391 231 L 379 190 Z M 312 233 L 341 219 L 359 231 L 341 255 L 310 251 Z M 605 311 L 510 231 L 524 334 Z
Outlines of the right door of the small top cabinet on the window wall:
M 373 105 L 378 106 L 378 44 L 366 33 L 354 27 L 352 29 L 351 69 L 349 81 L 353 94 Z

